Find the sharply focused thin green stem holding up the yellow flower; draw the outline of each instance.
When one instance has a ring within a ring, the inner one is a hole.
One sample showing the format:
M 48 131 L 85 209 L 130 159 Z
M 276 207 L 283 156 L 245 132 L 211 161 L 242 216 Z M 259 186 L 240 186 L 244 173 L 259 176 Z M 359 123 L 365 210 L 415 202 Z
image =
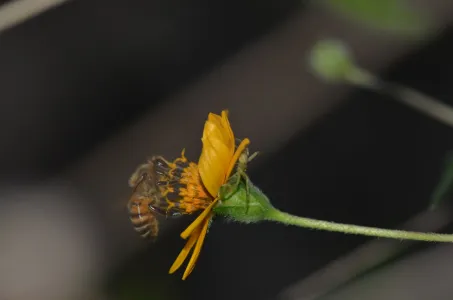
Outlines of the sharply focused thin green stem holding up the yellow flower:
M 366 236 L 383 237 L 390 239 L 414 240 L 414 241 L 427 241 L 427 242 L 453 242 L 453 234 L 440 234 L 440 233 L 423 233 L 404 230 L 390 230 L 375 227 L 366 227 L 351 224 L 341 224 L 322 220 L 315 220 L 310 218 L 303 218 L 288 213 L 279 211 L 278 209 L 271 209 L 266 213 L 266 220 L 275 221 L 287 225 L 294 225 L 298 227 L 342 232 L 346 234 L 357 234 Z

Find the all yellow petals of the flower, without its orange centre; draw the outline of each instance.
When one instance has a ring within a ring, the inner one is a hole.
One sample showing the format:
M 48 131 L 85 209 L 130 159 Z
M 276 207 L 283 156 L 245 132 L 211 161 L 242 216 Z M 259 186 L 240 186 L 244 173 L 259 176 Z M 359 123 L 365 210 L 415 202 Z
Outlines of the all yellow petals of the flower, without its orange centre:
M 239 156 L 250 144 L 249 139 L 246 138 L 237 148 L 235 147 L 235 138 L 230 122 L 228 121 L 228 112 L 226 110 L 222 111 L 221 116 L 213 113 L 208 115 L 201 141 L 203 143 L 203 149 L 198 161 L 198 172 L 203 186 L 211 195 L 213 201 L 181 233 L 183 239 L 190 238 L 171 266 L 169 273 L 172 274 L 181 267 L 195 246 L 192 257 L 182 277 L 183 280 L 192 272 L 200 255 L 208 226 L 213 216 L 212 208 L 218 201 L 219 189 L 226 183 Z

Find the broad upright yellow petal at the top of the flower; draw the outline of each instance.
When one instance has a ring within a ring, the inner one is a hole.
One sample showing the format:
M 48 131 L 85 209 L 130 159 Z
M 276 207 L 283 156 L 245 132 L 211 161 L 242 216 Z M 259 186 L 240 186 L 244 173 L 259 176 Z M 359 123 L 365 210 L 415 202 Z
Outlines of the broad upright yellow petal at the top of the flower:
M 198 170 L 204 186 L 215 198 L 219 188 L 225 183 L 235 148 L 227 111 L 222 111 L 222 116 L 213 113 L 208 115 L 201 141 L 203 149 L 198 161 Z

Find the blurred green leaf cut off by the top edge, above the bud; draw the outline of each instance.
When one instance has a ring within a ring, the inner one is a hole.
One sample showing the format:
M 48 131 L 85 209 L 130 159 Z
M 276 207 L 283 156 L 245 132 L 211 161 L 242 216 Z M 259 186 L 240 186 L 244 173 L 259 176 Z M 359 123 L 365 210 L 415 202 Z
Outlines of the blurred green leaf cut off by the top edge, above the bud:
M 430 29 L 429 17 L 404 0 L 324 0 L 335 12 L 375 29 L 418 36 Z

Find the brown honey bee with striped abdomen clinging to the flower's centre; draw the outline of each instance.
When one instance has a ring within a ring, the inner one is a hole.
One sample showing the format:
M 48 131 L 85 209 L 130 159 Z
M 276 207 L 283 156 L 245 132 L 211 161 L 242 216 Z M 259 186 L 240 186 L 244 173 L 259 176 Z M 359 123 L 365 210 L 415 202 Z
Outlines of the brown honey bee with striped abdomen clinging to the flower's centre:
M 129 179 L 129 186 L 133 188 L 127 204 L 129 218 L 134 229 L 144 238 L 157 238 L 158 215 L 166 218 L 181 215 L 177 203 L 169 201 L 168 197 L 169 186 L 177 183 L 173 174 L 177 168 L 174 166 L 163 157 L 155 156 L 140 165 Z

